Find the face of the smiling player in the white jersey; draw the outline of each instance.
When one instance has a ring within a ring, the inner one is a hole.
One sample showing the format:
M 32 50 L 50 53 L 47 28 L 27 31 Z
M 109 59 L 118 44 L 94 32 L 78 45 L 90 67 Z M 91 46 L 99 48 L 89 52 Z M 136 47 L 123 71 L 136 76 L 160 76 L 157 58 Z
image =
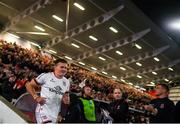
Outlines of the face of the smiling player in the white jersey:
M 55 68 L 54 68 L 54 72 L 56 73 L 56 75 L 58 76 L 64 76 L 67 73 L 67 63 L 58 63 Z

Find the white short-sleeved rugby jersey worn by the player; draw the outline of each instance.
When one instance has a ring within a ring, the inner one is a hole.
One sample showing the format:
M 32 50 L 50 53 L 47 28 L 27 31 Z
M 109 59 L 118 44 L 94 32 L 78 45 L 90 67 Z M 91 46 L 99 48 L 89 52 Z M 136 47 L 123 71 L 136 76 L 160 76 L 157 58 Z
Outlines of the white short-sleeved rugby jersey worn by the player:
M 53 72 L 42 73 L 35 80 L 41 85 L 41 97 L 46 98 L 44 105 L 37 105 L 36 112 L 43 111 L 47 116 L 57 118 L 61 108 L 62 96 L 65 92 L 69 91 L 69 80 L 65 77 L 59 79 Z

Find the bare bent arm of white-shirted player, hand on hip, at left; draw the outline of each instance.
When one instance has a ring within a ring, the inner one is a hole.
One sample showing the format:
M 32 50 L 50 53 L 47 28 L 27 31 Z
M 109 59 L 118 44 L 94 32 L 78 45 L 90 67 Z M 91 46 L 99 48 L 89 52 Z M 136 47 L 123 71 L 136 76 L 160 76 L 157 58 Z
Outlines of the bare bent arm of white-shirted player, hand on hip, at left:
M 36 94 L 36 89 L 39 89 L 39 85 L 35 80 L 36 79 L 32 79 L 30 82 L 26 83 L 26 89 L 37 103 L 43 105 L 45 103 L 45 98 Z

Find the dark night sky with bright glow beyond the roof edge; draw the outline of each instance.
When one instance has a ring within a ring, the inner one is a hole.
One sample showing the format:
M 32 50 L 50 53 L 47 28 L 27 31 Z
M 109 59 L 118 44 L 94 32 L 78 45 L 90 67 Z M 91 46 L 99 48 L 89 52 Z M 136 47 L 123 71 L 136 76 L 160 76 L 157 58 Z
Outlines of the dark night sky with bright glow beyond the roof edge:
M 180 44 L 180 0 L 132 0 L 144 14 Z M 179 22 L 179 29 L 170 26 Z

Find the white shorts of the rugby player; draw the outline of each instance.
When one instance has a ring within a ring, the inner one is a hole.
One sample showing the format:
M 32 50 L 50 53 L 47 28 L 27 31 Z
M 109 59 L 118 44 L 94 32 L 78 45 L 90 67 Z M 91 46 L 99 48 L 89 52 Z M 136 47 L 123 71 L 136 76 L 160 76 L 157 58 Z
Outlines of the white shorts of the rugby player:
M 51 117 L 42 106 L 37 106 L 35 115 L 37 124 L 56 123 L 57 118 Z

